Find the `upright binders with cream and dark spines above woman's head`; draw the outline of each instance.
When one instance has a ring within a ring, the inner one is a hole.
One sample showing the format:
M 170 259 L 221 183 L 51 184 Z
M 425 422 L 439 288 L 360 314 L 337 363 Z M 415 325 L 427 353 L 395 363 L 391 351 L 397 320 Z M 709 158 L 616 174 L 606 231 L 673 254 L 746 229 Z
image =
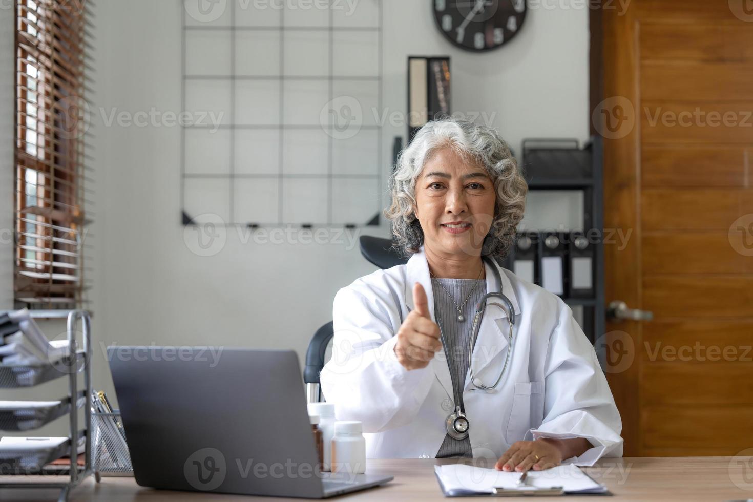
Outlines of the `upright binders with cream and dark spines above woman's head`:
M 408 57 L 408 143 L 429 120 L 450 114 L 450 58 Z

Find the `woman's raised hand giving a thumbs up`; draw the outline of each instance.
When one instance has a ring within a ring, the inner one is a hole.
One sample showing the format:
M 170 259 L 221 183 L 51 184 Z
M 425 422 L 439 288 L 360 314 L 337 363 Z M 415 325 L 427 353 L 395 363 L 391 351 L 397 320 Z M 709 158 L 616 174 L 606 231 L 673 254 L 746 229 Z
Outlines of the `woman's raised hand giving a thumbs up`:
M 431 321 L 428 299 L 421 284 L 413 285 L 413 310 L 398 329 L 395 354 L 406 370 L 418 370 L 428 366 L 434 353 L 441 350 L 439 326 Z

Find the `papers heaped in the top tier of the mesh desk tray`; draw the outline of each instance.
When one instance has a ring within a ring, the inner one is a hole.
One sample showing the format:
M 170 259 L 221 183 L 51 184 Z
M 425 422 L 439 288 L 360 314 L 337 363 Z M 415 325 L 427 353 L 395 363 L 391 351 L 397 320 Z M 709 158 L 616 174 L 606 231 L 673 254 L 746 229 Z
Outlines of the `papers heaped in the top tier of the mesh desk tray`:
M 50 340 L 41 332 L 28 309 L 0 315 L 0 364 L 55 363 L 69 353 L 68 340 Z

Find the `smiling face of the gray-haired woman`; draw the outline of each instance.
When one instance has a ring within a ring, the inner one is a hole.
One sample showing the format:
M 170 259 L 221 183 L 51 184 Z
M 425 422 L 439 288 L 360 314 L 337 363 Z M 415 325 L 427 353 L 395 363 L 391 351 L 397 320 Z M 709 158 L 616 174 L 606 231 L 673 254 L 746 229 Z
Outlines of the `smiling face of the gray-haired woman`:
M 494 220 L 496 192 L 486 169 L 441 148 L 416 180 L 416 217 L 435 254 L 478 256 Z

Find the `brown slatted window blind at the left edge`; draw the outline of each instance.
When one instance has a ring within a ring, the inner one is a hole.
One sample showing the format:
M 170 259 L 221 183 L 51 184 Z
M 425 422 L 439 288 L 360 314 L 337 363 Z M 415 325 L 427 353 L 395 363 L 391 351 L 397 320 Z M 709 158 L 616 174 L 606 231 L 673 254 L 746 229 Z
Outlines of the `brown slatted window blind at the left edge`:
M 87 9 L 16 0 L 16 307 L 87 303 Z

